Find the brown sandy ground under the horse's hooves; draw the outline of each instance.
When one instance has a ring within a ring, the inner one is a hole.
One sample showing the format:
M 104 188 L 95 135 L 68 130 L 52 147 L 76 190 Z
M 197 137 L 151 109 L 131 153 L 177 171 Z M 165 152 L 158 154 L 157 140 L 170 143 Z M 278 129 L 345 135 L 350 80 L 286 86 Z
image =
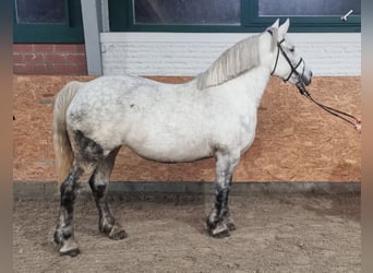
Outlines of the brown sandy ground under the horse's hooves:
M 360 272 L 360 195 L 231 197 L 238 229 L 215 239 L 205 230 L 210 195 L 111 198 L 129 237 L 97 229 L 86 193 L 77 199 L 76 258 L 60 257 L 52 234 L 58 201 L 16 200 L 14 272 Z

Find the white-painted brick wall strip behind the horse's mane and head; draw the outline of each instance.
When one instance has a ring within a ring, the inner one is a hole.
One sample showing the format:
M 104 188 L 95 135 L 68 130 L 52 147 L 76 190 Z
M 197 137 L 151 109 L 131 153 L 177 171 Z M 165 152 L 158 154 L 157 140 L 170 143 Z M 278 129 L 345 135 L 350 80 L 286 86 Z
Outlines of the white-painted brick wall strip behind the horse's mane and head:
M 195 75 L 252 34 L 101 33 L 104 74 Z M 314 75 L 360 75 L 360 33 L 289 34 Z

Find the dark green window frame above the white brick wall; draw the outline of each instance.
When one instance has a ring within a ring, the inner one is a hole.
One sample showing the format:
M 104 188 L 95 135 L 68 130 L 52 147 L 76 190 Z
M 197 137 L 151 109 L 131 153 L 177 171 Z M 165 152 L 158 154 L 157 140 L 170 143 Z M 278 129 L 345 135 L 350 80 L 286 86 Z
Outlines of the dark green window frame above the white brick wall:
M 258 0 L 241 0 L 241 25 L 134 24 L 132 0 L 109 1 L 109 15 L 112 32 L 253 33 L 262 32 L 277 19 L 258 16 Z M 285 21 L 286 17 L 280 19 Z M 294 33 L 361 32 L 360 15 L 350 16 L 347 22 L 342 22 L 340 16 L 291 16 L 290 19 L 290 32 Z

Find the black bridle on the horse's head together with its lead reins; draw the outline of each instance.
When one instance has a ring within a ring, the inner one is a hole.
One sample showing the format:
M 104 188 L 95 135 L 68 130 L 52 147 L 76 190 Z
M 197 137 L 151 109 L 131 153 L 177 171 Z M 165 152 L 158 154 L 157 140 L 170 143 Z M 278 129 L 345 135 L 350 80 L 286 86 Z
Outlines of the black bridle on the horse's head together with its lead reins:
M 273 32 L 270 29 L 267 29 L 267 32 L 273 36 Z M 342 120 L 345 120 L 346 122 L 348 123 L 351 123 L 359 132 L 361 131 L 361 120 L 359 120 L 358 118 L 356 118 L 354 116 L 348 114 L 348 112 L 345 112 L 345 111 L 341 111 L 341 110 L 338 110 L 338 109 L 335 109 L 335 108 L 332 108 L 329 106 L 326 106 L 326 105 L 323 105 L 321 103 L 318 103 L 317 100 L 315 100 L 310 92 L 305 88 L 305 84 L 303 82 L 303 75 L 304 75 L 304 70 L 305 70 L 305 63 L 304 63 L 304 60 L 302 58 L 299 59 L 298 63 L 296 66 L 292 64 L 290 58 L 288 57 L 288 55 L 286 54 L 285 49 L 282 48 L 281 44 L 285 41 L 285 38 L 281 39 L 280 41 L 277 41 L 277 57 L 276 57 L 276 61 L 275 61 L 275 66 L 270 72 L 270 75 L 273 75 L 276 71 L 276 68 L 277 68 L 277 63 L 278 63 L 278 59 L 279 59 L 279 54 L 281 52 L 284 58 L 287 60 L 287 62 L 289 63 L 290 66 L 290 69 L 291 69 L 291 72 L 289 73 L 288 78 L 286 80 L 284 80 L 285 82 L 288 82 L 291 78 L 292 74 L 296 74 L 298 76 L 298 82 L 296 83 L 296 86 L 298 87 L 299 92 L 301 95 L 305 96 L 308 99 L 310 99 L 312 103 L 314 103 L 315 105 L 317 105 L 318 107 L 321 107 L 323 110 L 332 114 L 333 116 L 336 116 Z M 302 73 L 300 74 L 297 69 L 299 68 L 299 66 L 303 63 L 303 70 L 302 70 Z M 352 120 L 350 120 L 350 119 Z

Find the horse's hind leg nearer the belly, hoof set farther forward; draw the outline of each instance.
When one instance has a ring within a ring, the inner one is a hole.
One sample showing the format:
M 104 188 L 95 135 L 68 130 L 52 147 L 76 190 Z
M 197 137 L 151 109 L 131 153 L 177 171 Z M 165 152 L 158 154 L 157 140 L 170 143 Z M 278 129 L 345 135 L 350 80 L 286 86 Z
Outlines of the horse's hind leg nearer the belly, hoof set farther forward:
M 108 235 L 109 238 L 117 240 L 125 238 L 127 234 L 112 216 L 106 194 L 111 170 L 119 150 L 120 147 L 113 150 L 103 162 L 98 164 L 94 175 L 89 180 L 89 186 L 95 197 L 96 206 L 99 214 L 98 229 Z

